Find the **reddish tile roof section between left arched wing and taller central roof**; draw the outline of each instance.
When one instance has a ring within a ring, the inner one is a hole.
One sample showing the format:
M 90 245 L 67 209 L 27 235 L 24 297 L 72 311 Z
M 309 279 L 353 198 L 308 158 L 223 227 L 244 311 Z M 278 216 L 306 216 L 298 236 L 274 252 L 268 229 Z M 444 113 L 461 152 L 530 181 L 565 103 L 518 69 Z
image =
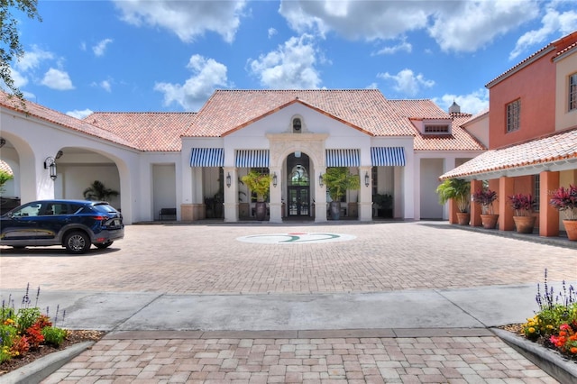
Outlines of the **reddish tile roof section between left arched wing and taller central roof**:
M 180 136 L 196 113 L 96 112 L 84 120 L 122 137 L 141 151 L 180 151 Z

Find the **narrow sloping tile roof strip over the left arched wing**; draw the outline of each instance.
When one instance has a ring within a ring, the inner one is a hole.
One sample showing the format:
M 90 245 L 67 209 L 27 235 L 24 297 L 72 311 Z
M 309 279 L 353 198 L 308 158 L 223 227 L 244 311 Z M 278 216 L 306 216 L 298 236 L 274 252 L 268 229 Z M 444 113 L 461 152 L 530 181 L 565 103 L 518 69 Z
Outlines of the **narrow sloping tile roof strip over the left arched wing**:
M 127 147 L 136 148 L 133 145 L 133 143 L 124 140 L 123 138 L 115 135 L 114 133 L 105 131 L 102 128 L 99 128 L 93 124 L 87 123 L 84 120 L 79 120 L 75 117 L 71 117 L 68 114 L 62 114 L 60 112 L 47 108 L 43 105 L 32 103 L 31 101 L 24 101 L 24 107 L 23 107 L 19 99 L 15 98 L 14 96 L 10 97 L 5 92 L 1 91 L 0 91 L 0 105 L 7 109 L 16 111 L 18 113 L 31 115 L 41 120 L 50 123 L 55 123 L 65 128 L 69 128 L 73 131 L 86 133 L 90 136 L 95 136 L 108 142 L 115 142 L 117 144 L 122 144 Z

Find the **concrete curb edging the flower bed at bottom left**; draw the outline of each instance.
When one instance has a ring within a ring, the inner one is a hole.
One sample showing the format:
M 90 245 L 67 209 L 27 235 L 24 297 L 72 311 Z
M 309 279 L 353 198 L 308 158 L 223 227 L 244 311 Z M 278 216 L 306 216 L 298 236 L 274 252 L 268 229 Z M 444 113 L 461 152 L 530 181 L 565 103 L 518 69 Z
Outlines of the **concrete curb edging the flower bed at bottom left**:
M 77 357 L 80 353 L 86 351 L 95 342 L 76 343 L 69 348 L 52 352 L 37 361 L 32 361 L 17 370 L 0 376 L 2 384 L 35 384 L 46 379 L 64 364 Z

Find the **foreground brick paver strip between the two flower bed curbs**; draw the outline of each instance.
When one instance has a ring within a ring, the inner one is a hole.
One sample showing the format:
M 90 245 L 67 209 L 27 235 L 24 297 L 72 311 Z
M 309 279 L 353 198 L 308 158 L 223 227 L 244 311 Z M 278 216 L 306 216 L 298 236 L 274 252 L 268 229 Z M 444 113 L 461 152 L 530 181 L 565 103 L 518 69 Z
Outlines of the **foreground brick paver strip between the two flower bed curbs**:
M 556 383 L 498 337 L 103 340 L 51 383 Z

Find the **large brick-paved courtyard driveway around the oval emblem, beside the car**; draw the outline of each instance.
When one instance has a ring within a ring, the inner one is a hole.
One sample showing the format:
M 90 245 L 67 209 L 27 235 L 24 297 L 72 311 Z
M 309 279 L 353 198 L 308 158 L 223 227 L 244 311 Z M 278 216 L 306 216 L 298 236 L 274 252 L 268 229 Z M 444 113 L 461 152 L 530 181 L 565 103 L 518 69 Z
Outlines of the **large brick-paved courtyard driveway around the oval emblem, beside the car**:
M 246 235 L 343 233 L 343 242 L 262 244 Z M 130 225 L 109 250 L 2 248 L 0 288 L 171 294 L 380 292 L 574 281 L 577 251 L 436 222 Z

